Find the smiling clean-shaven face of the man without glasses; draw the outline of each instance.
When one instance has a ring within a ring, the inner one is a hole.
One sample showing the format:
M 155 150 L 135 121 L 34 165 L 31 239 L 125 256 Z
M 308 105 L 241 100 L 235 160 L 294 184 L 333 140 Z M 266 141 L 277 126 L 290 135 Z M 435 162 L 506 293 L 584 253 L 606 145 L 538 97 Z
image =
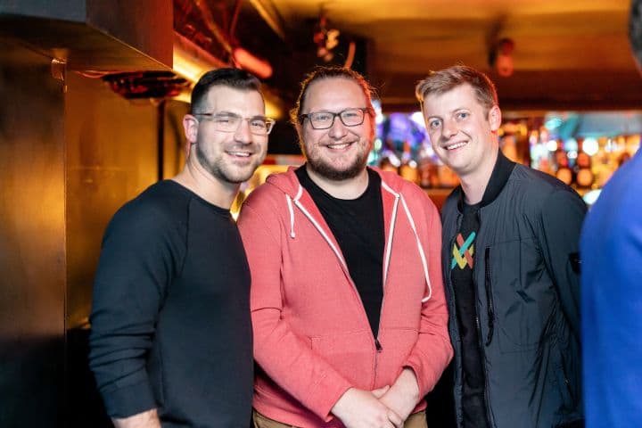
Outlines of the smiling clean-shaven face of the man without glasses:
M 473 87 L 463 84 L 426 96 L 422 108 L 432 149 L 440 160 L 459 177 L 490 177 L 498 150 L 499 107 L 487 111 Z

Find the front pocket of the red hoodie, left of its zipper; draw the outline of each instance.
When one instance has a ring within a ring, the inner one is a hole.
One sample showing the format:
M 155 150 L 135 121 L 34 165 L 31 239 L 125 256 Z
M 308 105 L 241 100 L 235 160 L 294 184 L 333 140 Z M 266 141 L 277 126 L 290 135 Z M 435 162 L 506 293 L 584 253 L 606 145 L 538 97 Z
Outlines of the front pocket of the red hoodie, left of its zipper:
M 371 389 L 374 382 L 375 350 L 369 329 L 311 337 L 310 342 L 312 350 L 353 386 Z

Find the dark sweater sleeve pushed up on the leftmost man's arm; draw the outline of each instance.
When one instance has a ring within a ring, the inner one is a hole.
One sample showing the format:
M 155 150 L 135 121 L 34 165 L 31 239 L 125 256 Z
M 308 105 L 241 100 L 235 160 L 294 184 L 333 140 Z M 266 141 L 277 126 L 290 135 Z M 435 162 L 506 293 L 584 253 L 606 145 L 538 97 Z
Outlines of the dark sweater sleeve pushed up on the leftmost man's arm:
M 89 366 L 111 417 L 156 407 L 145 364 L 175 264 L 167 222 L 140 208 L 111 219 L 94 282 Z

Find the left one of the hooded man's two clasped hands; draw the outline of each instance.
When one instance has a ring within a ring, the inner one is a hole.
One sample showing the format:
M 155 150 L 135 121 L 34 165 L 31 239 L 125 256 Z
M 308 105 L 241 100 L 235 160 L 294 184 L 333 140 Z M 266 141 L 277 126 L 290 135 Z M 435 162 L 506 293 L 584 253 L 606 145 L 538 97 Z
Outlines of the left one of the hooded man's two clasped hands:
M 332 413 L 346 428 L 402 428 L 403 420 L 376 399 L 387 387 L 375 391 L 350 388 L 345 391 Z

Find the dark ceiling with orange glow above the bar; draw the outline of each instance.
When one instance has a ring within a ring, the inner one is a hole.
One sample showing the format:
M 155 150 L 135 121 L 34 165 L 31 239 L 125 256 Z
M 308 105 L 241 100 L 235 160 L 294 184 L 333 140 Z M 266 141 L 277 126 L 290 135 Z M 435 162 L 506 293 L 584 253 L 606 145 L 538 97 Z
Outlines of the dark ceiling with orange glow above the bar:
M 216 2 L 215 2 L 216 3 Z M 218 4 L 225 2 L 218 2 Z M 235 2 L 228 2 L 233 10 Z M 465 63 L 490 74 L 505 110 L 612 110 L 642 106 L 642 78 L 627 38 L 629 0 L 248 0 L 236 37 L 272 63 L 268 84 L 291 100 L 317 63 L 319 18 L 338 29 L 333 63 L 355 42 L 352 67 L 387 111 L 416 109 L 429 70 Z M 491 53 L 512 40 L 514 71 Z

